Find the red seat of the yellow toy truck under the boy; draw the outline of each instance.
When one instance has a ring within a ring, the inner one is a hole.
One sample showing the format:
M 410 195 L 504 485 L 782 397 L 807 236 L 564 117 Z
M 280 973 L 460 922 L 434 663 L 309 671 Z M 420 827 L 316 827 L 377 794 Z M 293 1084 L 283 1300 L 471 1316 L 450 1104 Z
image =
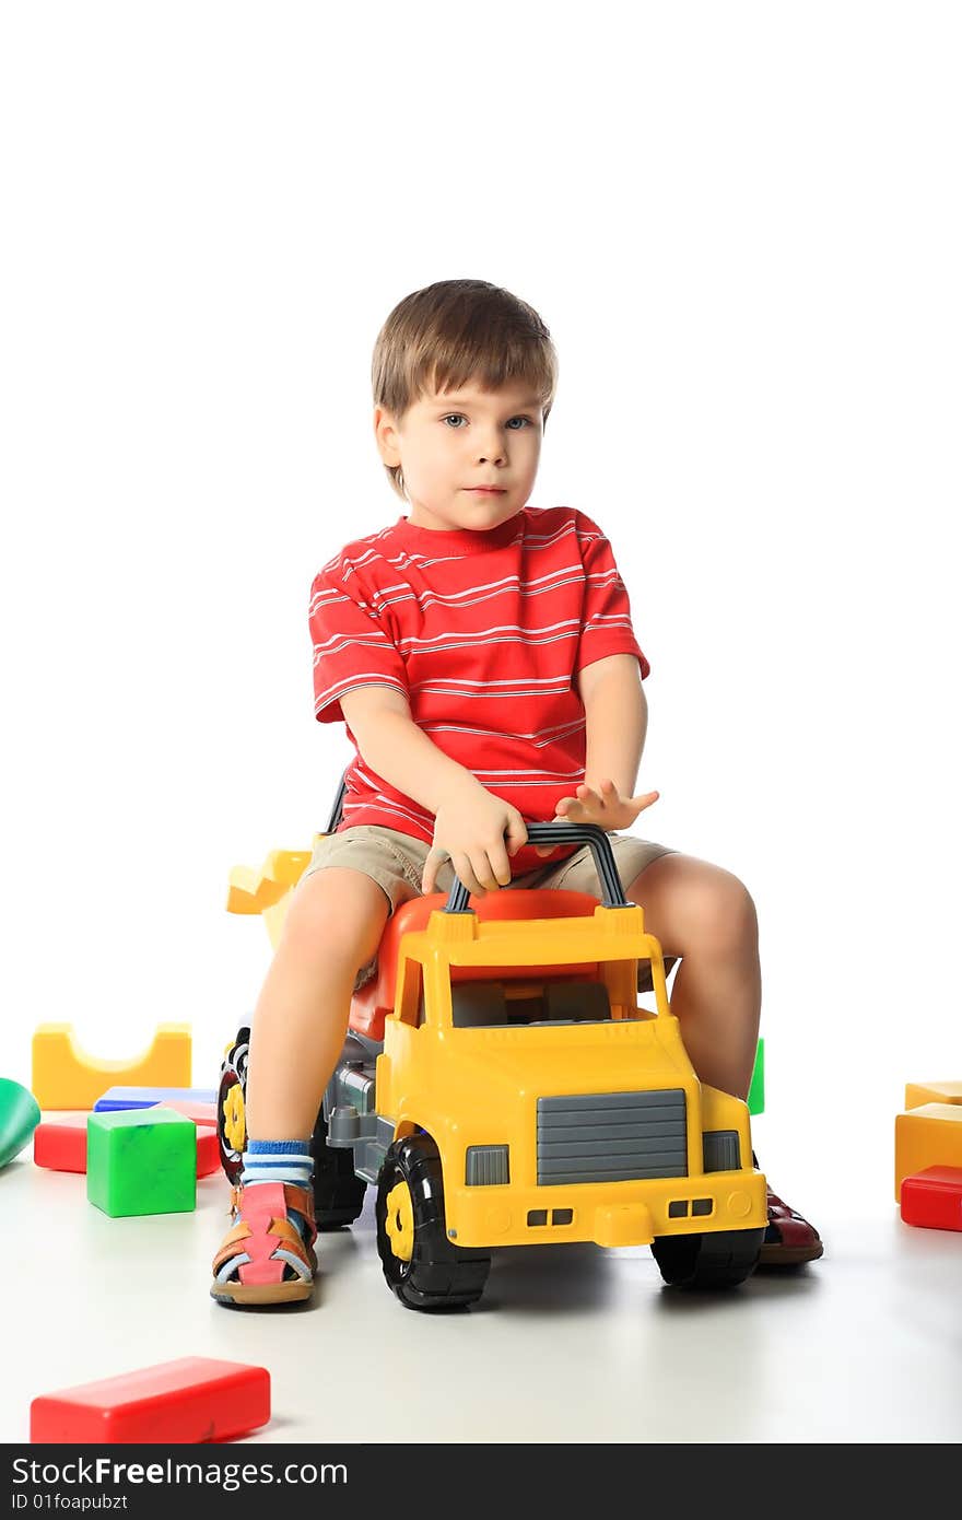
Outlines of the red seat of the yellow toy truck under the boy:
M 486 892 L 485 897 L 471 900 L 471 907 L 479 920 L 518 920 L 518 918 L 590 918 L 599 906 L 599 898 L 588 892 L 565 892 L 562 889 Z M 377 971 L 359 993 L 351 999 L 351 1029 L 366 1035 L 368 1040 L 384 1038 L 384 1018 L 394 1012 L 394 990 L 398 970 L 398 947 L 401 935 L 426 929 L 433 912 L 447 904 L 445 892 L 432 892 L 430 897 L 412 897 L 403 903 L 384 924 L 384 933 L 377 950 Z M 530 967 L 529 974 L 565 976 L 565 977 L 596 977 L 597 962 L 585 965 L 564 967 Z M 517 976 L 517 967 L 451 967 L 451 980 L 485 979 L 498 980 L 505 976 Z

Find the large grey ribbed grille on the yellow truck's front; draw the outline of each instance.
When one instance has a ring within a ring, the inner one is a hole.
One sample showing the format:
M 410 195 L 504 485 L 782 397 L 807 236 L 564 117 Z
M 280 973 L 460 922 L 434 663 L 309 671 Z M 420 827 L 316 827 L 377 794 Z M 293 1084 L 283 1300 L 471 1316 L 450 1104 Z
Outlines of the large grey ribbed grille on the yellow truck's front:
M 540 1187 L 687 1173 L 684 1088 L 538 1099 Z

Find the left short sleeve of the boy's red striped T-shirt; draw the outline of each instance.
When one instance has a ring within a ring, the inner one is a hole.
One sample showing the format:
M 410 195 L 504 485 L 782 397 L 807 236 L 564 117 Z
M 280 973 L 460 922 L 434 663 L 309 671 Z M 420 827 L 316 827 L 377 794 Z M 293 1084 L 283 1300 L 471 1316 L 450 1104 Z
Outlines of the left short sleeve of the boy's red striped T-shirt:
M 309 608 L 315 648 L 315 717 L 343 722 L 340 698 L 357 686 L 392 686 L 404 696 L 407 670 L 384 632 L 375 610 L 365 600 L 357 578 L 345 579 L 334 561 L 315 576 Z

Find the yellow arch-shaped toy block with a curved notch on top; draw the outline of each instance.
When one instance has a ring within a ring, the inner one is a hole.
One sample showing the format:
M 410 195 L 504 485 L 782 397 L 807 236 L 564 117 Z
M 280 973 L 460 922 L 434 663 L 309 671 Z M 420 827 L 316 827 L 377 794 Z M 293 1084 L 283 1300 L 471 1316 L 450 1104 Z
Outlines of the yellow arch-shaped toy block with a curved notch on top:
M 79 1049 L 73 1024 L 40 1024 L 30 1088 L 41 1108 L 93 1108 L 108 1087 L 190 1087 L 190 1024 L 158 1024 L 134 1061 L 94 1061 Z

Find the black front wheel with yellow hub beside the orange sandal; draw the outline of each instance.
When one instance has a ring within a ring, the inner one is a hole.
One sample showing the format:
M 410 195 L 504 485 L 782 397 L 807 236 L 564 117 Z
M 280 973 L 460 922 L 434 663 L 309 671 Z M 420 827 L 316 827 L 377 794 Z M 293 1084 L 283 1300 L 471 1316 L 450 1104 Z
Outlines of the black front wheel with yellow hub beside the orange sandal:
M 485 1290 L 491 1257 L 447 1236 L 438 1146 L 426 1134 L 395 1140 L 377 1183 L 377 1251 L 406 1309 L 464 1309 Z

